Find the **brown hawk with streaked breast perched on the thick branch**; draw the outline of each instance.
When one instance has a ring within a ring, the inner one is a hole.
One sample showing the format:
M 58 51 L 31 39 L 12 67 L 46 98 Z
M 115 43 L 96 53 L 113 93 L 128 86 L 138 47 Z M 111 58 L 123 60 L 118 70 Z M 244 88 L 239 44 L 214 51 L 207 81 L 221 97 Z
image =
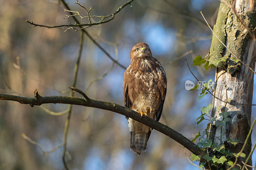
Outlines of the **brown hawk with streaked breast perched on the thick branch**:
M 160 62 L 152 56 L 146 43 L 132 47 L 131 64 L 124 72 L 124 106 L 159 121 L 166 95 L 166 74 Z M 152 128 L 127 118 L 131 132 L 130 149 L 140 155 L 146 151 Z

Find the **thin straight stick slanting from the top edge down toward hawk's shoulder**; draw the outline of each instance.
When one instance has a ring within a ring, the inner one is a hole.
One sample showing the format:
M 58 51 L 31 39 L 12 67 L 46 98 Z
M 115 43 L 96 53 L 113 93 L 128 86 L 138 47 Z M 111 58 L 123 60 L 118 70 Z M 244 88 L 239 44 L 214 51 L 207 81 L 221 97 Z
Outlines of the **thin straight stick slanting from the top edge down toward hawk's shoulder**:
M 69 11 L 71 11 L 71 9 L 69 8 L 68 4 L 67 4 L 64 0 L 60 0 L 60 1 L 61 1 L 61 3 L 62 3 Z M 73 15 L 73 12 L 69 12 L 69 13 L 70 13 L 71 15 Z M 76 19 L 75 16 L 73 16 L 73 19 L 76 21 L 76 23 L 80 24 L 80 22 Z M 80 28 L 82 28 L 82 27 L 80 27 Z M 120 64 L 119 62 L 117 62 L 113 57 L 111 57 L 111 55 L 110 55 L 102 46 L 100 46 L 100 44 L 97 43 L 97 42 L 92 38 L 92 36 L 91 36 L 85 29 L 82 29 L 82 30 L 83 30 L 83 32 L 89 37 L 89 39 L 91 39 L 92 42 L 93 42 L 96 46 L 98 46 L 98 47 L 100 48 L 100 50 L 102 50 L 102 51 L 108 56 L 108 58 L 110 58 L 113 62 L 115 62 L 118 66 L 122 67 L 124 70 L 126 69 L 125 66 L 123 66 L 122 64 Z

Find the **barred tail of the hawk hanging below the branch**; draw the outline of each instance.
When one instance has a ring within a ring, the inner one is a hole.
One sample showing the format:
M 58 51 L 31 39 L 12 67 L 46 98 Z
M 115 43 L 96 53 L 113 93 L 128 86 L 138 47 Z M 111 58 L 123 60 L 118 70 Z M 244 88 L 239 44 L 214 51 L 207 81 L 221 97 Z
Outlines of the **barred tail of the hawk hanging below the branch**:
M 140 155 L 141 152 L 147 150 L 148 134 L 145 132 L 131 132 L 130 150 Z

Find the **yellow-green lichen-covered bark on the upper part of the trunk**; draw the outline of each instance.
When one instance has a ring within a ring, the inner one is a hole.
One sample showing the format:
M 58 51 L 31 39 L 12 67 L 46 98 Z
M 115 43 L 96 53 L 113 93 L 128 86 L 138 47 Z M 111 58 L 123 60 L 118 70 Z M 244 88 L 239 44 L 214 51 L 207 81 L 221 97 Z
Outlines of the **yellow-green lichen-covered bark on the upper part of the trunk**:
M 239 14 L 245 25 L 249 25 L 247 13 Z M 245 47 L 247 46 L 249 34 L 242 22 L 237 18 L 233 9 L 224 2 L 220 3 L 219 14 L 216 25 L 213 27 L 214 33 L 229 48 L 225 49 L 224 45 L 213 34 L 212 45 L 210 49 L 210 64 L 224 68 L 228 73 L 234 73 L 240 69 L 241 63 L 237 58 L 242 60 Z M 236 55 L 231 54 L 230 50 Z M 226 62 L 214 62 L 222 57 L 227 57 Z

